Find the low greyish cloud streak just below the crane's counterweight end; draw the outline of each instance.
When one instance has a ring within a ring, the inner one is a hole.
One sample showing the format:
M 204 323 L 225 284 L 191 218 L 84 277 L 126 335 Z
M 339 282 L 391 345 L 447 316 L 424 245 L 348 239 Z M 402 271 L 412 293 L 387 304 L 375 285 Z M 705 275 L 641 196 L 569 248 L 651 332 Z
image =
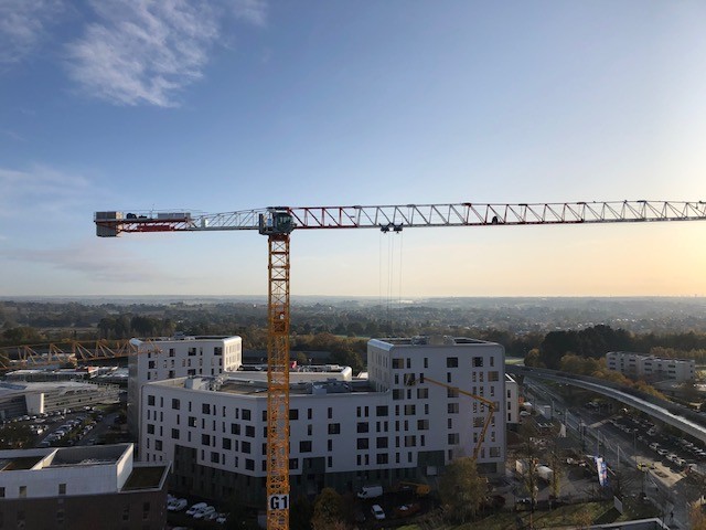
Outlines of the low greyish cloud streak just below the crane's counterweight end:
M 85 243 L 64 248 L 13 248 L 0 250 L 0 256 L 7 259 L 46 264 L 53 268 L 81 273 L 96 282 L 148 283 L 164 279 L 164 271 L 157 271 L 143 259 L 126 254 L 125 250 Z M 140 262 L 139 267 L 126 266 L 126 263 Z M 170 279 L 170 278 L 168 278 Z

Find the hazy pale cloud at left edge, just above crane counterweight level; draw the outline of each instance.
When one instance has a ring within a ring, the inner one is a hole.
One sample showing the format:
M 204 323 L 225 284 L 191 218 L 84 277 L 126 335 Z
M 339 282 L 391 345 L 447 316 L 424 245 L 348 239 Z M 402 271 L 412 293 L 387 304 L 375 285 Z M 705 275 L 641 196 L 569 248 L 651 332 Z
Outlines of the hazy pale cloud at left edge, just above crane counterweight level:
M 66 212 L 96 194 L 87 177 L 46 166 L 28 170 L 0 167 L 0 219 L 22 215 L 28 208 L 44 214 Z

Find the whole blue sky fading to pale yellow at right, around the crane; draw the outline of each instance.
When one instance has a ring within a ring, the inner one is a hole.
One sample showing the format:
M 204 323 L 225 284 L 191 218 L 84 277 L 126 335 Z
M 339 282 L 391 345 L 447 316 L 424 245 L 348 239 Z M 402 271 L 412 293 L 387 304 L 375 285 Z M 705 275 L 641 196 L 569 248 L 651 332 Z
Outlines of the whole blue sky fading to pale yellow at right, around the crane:
M 706 199 L 703 2 L 0 0 L 0 295 L 267 293 L 93 212 Z M 706 223 L 292 235 L 297 295 L 706 295 Z M 389 278 L 392 279 L 392 283 Z

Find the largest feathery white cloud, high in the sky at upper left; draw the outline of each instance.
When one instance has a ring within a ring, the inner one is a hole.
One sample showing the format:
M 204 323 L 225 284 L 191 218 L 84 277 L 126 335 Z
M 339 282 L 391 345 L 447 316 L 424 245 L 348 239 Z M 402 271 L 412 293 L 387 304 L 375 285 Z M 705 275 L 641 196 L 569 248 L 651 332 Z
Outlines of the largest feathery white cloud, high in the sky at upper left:
M 231 17 L 263 25 L 261 0 L 90 2 L 97 21 L 67 45 L 69 75 L 87 94 L 118 105 L 178 105 L 203 76 Z M 231 15 L 231 17 L 228 17 Z

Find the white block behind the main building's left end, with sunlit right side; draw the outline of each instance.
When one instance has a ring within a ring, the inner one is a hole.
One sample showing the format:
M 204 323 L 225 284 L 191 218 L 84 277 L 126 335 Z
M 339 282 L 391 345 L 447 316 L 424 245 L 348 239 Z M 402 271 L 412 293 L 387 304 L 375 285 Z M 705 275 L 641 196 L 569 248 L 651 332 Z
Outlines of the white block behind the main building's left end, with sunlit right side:
M 240 337 L 176 336 L 149 340 L 131 339 L 137 354 L 128 360 L 128 426 L 140 424 L 142 385 L 190 375 L 218 375 L 235 371 L 243 362 Z

